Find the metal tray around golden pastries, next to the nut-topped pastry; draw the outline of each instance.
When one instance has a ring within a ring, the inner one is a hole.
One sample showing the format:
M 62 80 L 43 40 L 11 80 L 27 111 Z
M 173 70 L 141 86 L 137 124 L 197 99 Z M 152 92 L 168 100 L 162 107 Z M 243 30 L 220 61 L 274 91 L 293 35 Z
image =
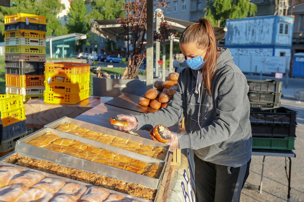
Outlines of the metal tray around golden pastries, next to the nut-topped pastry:
M 111 167 L 108 165 L 96 163 L 96 162 L 93 162 L 90 160 L 81 159 L 81 158 L 78 158 L 75 156 L 70 156 L 67 154 L 55 152 L 52 150 L 44 149 L 42 147 L 36 147 L 36 146 L 28 144 L 31 140 L 36 139 L 36 138 L 46 134 L 47 132 L 56 134 L 61 138 L 78 140 L 83 143 L 90 144 L 93 147 L 104 148 L 109 151 L 117 152 L 117 153 L 123 154 L 125 156 L 129 156 L 131 158 L 134 158 L 137 160 L 142 160 L 142 161 L 145 161 L 148 163 L 154 163 L 154 162 L 161 163 L 161 164 L 163 164 L 163 169 L 158 178 L 150 178 L 148 176 L 144 176 L 141 174 L 132 173 L 130 171 L 114 168 L 114 167 Z M 75 167 L 78 169 L 83 169 L 83 170 L 87 170 L 90 172 L 103 174 L 108 177 L 113 177 L 113 178 L 125 180 L 128 182 L 144 185 L 144 186 L 152 188 L 152 189 L 156 189 L 158 187 L 158 185 L 160 184 L 161 178 L 163 176 L 164 169 L 165 169 L 166 163 L 167 163 L 166 161 L 157 160 L 157 159 L 147 157 L 144 155 L 138 155 L 137 153 L 134 153 L 134 152 L 129 152 L 129 151 L 117 148 L 117 147 L 112 147 L 107 144 L 99 143 L 99 142 L 96 142 L 96 141 L 93 141 L 93 140 L 90 140 L 87 138 L 82 138 L 82 137 L 79 137 L 76 135 L 72 135 L 72 134 L 65 133 L 65 132 L 62 132 L 59 130 L 51 129 L 48 127 L 44 127 L 26 137 L 18 140 L 16 142 L 15 151 L 24 153 L 26 155 L 39 157 L 39 158 L 42 158 L 45 160 L 54 161 L 56 163 L 60 163 L 63 165 L 69 165 L 69 166 L 72 166 L 72 167 Z

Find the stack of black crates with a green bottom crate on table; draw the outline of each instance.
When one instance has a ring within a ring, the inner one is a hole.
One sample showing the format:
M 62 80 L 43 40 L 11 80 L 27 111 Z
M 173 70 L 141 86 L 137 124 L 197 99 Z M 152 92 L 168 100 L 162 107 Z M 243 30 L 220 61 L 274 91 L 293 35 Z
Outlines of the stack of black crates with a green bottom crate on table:
M 279 107 L 282 84 L 275 80 L 247 80 L 253 149 L 293 150 L 297 112 Z

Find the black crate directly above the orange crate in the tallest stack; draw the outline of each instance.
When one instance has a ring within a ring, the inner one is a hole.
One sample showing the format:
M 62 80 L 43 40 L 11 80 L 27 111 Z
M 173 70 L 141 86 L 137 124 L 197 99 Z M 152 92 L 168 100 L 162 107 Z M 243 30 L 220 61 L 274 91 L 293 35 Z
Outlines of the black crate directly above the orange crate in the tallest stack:
M 44 62 L 5 61 L 6 74 L 43 75 Z

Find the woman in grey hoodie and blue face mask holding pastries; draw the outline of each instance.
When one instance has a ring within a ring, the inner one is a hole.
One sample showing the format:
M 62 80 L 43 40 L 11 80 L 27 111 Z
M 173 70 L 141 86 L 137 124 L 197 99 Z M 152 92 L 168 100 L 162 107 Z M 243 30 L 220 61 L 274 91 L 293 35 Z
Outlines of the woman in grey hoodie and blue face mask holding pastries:
M 122 115 L 119 130 L 175 125 L 185 117 L 186 134 L 165 131 L 170 150 L 190 148 L 195 156 L 196 200 L 239 201 L 251 161 L 249 87 L 228 49 L 216 45 L 213 26 L 200 18 L 180 37 L 188 65 L 178 78 L 177 92 L 159 112 Z

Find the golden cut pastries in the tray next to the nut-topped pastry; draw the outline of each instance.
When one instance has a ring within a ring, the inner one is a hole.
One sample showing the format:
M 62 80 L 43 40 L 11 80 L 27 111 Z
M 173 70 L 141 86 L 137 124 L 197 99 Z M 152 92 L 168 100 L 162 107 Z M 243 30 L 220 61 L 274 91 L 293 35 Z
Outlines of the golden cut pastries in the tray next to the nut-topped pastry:
M 132 159 L 103 148 L 92 147 L 78 140 L 60 138 L 50 132 L 30 141 L 29 144 L 152 178 L 158 178 L 163 169 L 160 163 Z

